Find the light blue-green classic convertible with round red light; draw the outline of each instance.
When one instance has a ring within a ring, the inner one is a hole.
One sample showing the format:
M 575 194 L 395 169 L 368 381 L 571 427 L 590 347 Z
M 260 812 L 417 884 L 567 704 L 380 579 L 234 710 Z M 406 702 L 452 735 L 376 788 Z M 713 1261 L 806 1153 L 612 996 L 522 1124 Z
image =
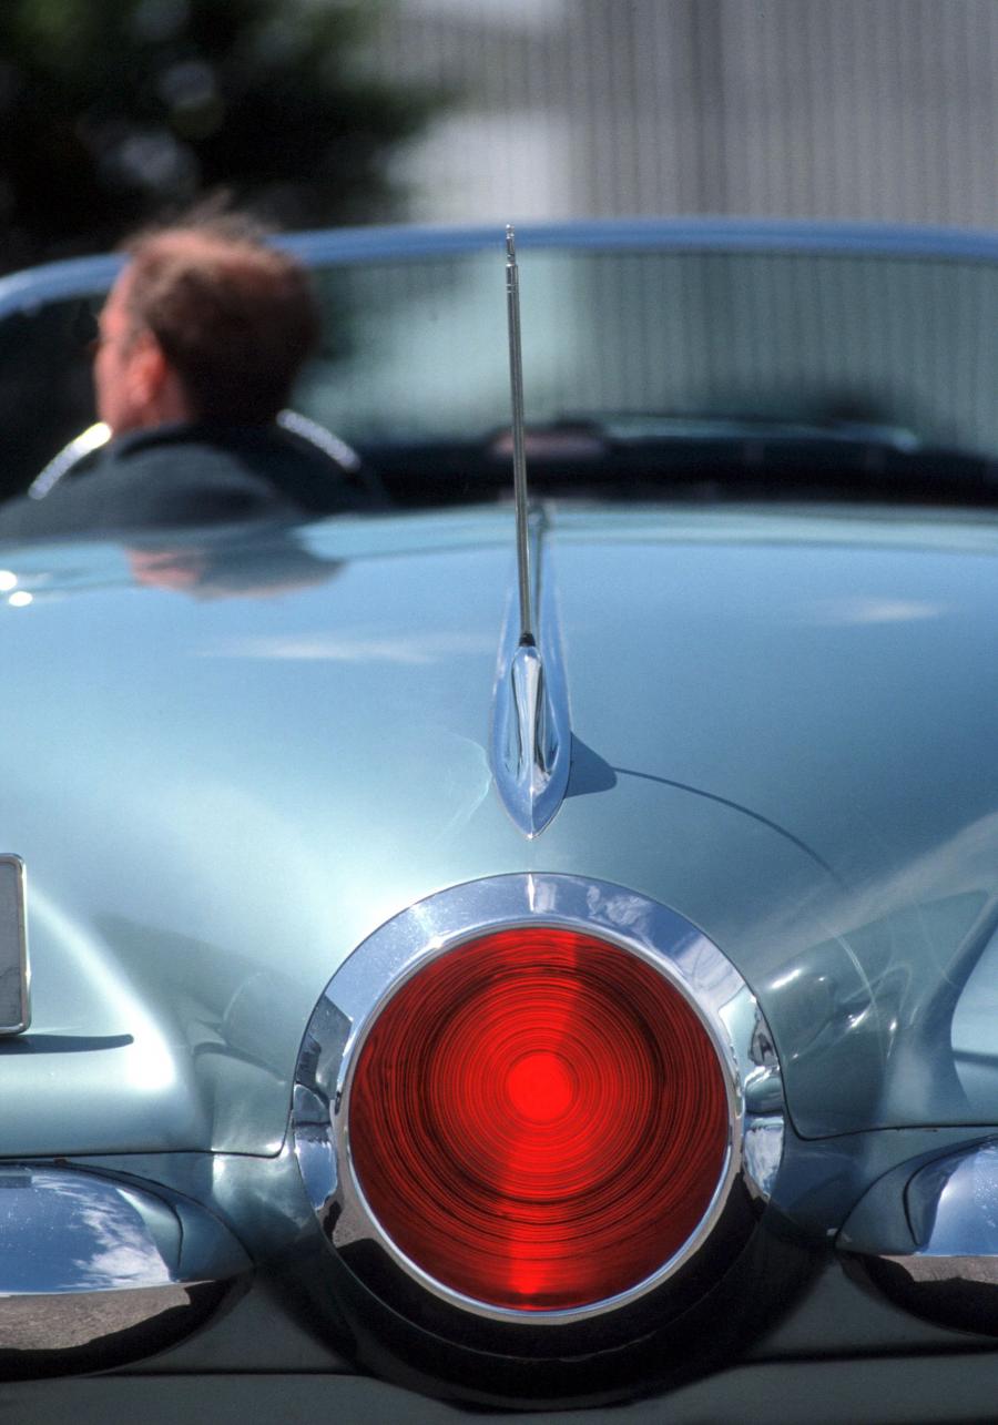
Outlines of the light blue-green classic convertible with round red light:
M 372 507 L 0 550 L 0 1404 L 992 1416 L 998 238 L 281 241 Z

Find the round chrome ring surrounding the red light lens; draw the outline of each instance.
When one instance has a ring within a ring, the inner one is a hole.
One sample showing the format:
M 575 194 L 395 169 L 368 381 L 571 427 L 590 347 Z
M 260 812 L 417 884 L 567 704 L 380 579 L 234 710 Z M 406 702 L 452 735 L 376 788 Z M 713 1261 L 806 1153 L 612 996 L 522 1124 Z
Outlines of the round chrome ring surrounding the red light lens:
M 351 1157 L 348 1120 L 354 1069 L 382 1007 L 436 956 L 480 935 L 525 925 L 595 933 L 653 965 L 700 1016 L 729 1093 L 731 1129 L 726 1166 L 696 1233 L 646 1280 L 577 1310 L 516 1311 L 472 1300 L 436 1281 L 381 1227 Z M 758 1070 L 767 1077 L 761 1114 L 753 1110 L 746 1094 L 746 1084 Z M 757 1201 L 768 1198 L 783 1150 L 777 1084 L 778 1064 L 754 996 L 730 960 L 683 916 L 637 892 L 580 876 L 496 876 L 418 902 L 375 931 L 336 970 L 309 1020 L 298 1059 L 292 1110 L 295 1154 L 305 1190 L 334 1251 L 342 1255 L 355 1244 L 376 1244 L 411 1282 L 462 1312 L 495 1322 L 528 1322 L 542 1330 L 619 1311 L 659 1288 L 706 1244 L 736 1183 Z M 356 1271 L 352 1261 L 348 1265 Z

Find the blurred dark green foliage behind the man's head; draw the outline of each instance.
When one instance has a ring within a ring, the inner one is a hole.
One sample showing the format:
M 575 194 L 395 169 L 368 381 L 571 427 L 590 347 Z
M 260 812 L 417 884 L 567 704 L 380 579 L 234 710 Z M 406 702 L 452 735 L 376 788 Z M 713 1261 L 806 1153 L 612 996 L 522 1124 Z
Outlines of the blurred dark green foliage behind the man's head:
M 385 0 L 0 0 L 0 271 L 225 191 L 284 227 L 391 215 L 432 107 L 364 41 Z

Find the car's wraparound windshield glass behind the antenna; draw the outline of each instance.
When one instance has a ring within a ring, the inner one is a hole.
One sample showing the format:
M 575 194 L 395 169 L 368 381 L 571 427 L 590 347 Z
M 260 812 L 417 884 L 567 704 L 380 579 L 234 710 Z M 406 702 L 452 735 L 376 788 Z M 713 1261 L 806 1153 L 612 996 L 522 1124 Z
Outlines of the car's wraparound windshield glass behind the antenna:
M 710 237 L 694 225 L 523 235 L 528 455 L 542 489 L 998 497 L 998 249 L 873 232 Z M 298 241 L 325 341 L 297 408 L 355 446 L 401 503 L 503 493 L 502 235 L 335 239 Z M 80 353 L 98 301 L 0 308 L 14 487 L 93 420 Z M 40 426 L 29 388 L 46 385 Z

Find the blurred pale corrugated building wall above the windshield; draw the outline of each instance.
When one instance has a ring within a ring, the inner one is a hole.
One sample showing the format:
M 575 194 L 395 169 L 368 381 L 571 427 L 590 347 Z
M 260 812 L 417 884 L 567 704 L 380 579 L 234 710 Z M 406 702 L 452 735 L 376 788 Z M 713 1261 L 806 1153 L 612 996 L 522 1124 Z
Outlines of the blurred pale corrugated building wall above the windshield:
M 998 228 L 998 0 L 395 0 L 408 217 Z

